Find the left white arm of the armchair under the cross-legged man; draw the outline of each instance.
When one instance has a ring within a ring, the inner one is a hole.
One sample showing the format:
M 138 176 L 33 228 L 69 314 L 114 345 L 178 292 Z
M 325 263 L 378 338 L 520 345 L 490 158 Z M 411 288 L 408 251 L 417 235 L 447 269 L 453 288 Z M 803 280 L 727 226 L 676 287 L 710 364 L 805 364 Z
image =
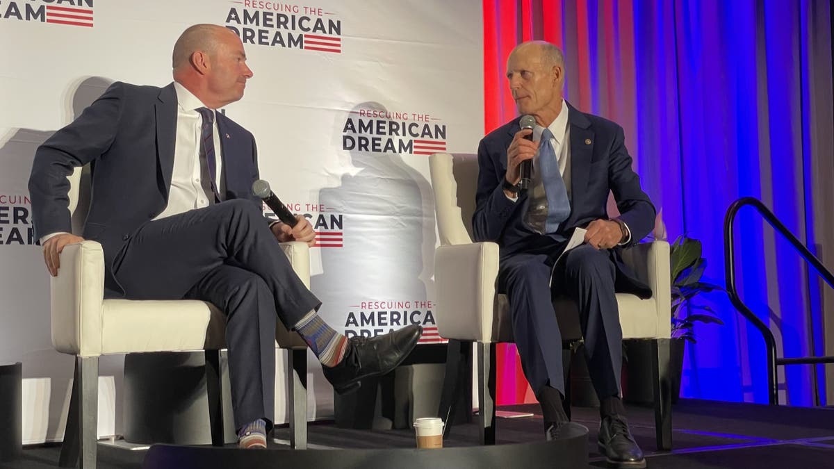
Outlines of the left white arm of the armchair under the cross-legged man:
M 58 276 L 50 277 L 52 340 L 59 352 L 102 352 L 104 251 L 96 241 L 66 245 Z

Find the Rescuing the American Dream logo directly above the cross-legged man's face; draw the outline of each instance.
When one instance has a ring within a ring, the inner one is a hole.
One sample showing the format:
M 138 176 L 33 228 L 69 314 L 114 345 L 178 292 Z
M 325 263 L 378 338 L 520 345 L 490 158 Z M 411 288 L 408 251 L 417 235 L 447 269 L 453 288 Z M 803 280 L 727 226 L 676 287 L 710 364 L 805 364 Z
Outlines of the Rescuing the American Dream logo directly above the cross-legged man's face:
M 336 13 L 311 5 L 233 1 L 226 28 L 244 44 L 296 48 L 317 52 L 342 52 L 342 20 Z

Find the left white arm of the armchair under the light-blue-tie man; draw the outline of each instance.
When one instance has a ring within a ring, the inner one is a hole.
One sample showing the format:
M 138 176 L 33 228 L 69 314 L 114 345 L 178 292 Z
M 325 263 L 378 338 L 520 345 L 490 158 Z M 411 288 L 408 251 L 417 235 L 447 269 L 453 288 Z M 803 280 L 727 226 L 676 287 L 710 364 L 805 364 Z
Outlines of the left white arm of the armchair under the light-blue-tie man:
M 440 336 L 491 341 L 497 278 L 495 243 L 445 245 L 435 250 L 435 320 Z

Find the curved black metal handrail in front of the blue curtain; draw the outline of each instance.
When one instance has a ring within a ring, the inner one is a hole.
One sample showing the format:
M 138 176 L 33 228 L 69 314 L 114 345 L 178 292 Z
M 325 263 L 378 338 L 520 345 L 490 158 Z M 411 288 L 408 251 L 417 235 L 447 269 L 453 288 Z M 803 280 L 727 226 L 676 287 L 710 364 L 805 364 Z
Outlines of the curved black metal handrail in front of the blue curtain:
M 823 280 L 826 281 L 826 284 L 831 288 L 834 288 L 834 275 L 831 275 L 831 272 L 826 269 L 824 265 L 820 262 L 820 260 L 816 259 L 816 256 L 811 254 L 811 251 L 806 248 L 805 245 L 801 243 L 800 240 L 796 239 L 789 229 L 782 224 L 779 219 L 776 219 L 776 215 L 768 209 L 765 204 L 761 203 L 761 200 L 754 199 L 752 197 L 743 197 L 741 199 L 736 200 L 733 202 L 730 207 L 726 211 L 726 215 L 724 217 L 724 266 L 725 266 L 725 273 L 726 273 L 726 290 L 727 295 L 730 296 L 730 301 L 734 306 L 736 306 L 736 310 L 738 310 L 741 315 L 743 315 L 746 320 L 749 320 L 753 325 L 756 326 L 756 329 L 761 332 L 762 338 L 765 340 L 765 345 L 767 347 L 767 391 L 771 405 L 777 406 L 779 404 L 779 391 L 777 389 L 777 375 L 776 375 L 776 366 L 785 366 L 785 365 L 811 365 L 811 364 L 820 364 L 820 363 L 834 363 L 834 356 L 806 356 L 806 357 L 794 357 L 794 358 L 777 358 L 776 357 L 776 339 L 773 336 L 770 328 L 759 319 L 758 316 L 753 314 L 753 312 L 748 308 L 743 301 L 741 301 L 741 297 L 738 295 L 738 290 L 736 290 L 736 258 L 735 258 L 735 238 L 733 237 L 733 221 L 736 219 L 736 214 L 738 211 L 744 207 L 745 205 L 750 205 L 751 207 L 755 208 L 756 211 L 761 214 L 764 219 L 767 220 L 767 223 L 771 224 L 771 226 L 776 229 L 776 232 L 781 234 L 788 240 L 791 245 L 793 245 L 794 249 L 796 249 L 802 258 L 810 264 L 816 273 L 819 274 Z M 809 313 L 810 314 L 810 313 Z M 808 320 L 808 327 L 812 328 L 812 321 L 811 318 Z M 811 330 L 810 334 L 811 338 L 811 353 L 813 353 L 814 347 L 814 335 L 813 331 Z M 816 397 L 816 404 L 819 405 L 819 396 L 816 394 L 818 392 L 816 386 L 816 370 L 814 371 L 814 392 Z

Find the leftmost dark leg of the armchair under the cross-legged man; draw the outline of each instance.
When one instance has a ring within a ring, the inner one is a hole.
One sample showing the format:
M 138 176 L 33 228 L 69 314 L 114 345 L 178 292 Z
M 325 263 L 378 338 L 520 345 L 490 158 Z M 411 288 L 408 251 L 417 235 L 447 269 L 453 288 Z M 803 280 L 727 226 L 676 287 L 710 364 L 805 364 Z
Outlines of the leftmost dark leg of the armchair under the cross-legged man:
M 98 452 L 98 356 L 75 358 L 73 393 L 69 401 L 58 466 L 95 469 Z

